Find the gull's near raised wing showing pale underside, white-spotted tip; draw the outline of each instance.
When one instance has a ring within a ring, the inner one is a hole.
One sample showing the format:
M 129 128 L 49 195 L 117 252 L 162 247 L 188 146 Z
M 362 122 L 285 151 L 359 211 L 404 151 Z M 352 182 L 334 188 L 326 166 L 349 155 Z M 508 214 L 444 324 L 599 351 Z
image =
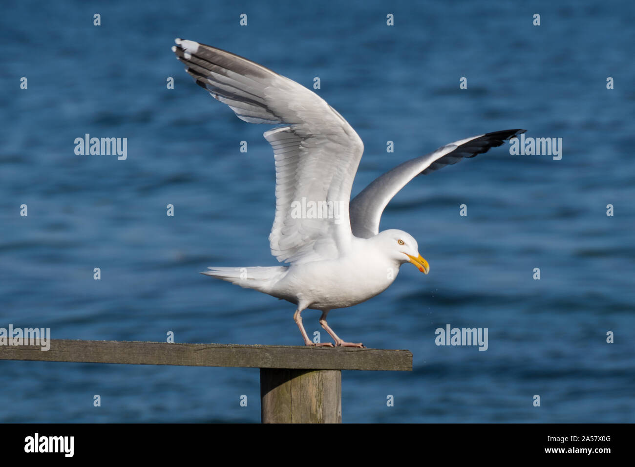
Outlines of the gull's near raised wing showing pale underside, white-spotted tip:
M 196 83 L 264 133 L 276 158 L 276 217 L 269 235 L 279 261 L 338 257 L 351 242 L 349 201 L 364 150 L 351 125 L 316 93 L 233 53 L 176 39 L 172 50 Z

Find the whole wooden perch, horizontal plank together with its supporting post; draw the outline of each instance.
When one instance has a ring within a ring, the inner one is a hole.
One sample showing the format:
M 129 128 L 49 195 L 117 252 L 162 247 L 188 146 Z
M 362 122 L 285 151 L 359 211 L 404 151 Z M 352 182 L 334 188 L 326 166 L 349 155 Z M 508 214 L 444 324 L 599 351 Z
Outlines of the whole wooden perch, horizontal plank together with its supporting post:
M 412 371 L 408 350 L 63 339 L 0 345 L 0 360 L 259 368 L 263 423 L 341 423 L 342 370 Z

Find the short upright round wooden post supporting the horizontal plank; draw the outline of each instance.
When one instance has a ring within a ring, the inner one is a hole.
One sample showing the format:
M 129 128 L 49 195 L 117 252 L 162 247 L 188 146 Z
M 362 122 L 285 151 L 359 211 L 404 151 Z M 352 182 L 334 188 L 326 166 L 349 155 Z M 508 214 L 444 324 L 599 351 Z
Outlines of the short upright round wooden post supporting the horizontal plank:
M 340 370 L 260 369 L 262 423 L 342 423 Z

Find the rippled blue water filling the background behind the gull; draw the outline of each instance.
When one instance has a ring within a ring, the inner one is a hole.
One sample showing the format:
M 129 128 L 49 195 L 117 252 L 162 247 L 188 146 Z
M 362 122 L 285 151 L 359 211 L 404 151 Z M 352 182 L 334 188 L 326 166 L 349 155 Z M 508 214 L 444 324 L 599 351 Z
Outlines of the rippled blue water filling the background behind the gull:
M 345 422 L 634 422 L 634 19 L 627 0 L 13 2 L 0 17 L 0 327 L 302 343 L 292 304 L 199 274 L 276 264 L 275 175 L 269 127 L 194 84 L 170 51 L 183 37 L 308 87 L 321 78 L 319 95 L 364 140 L 353 194 L 471 135 L 563 139 L 559 161 L 499 147 L 394 198 L 382 229 L 417 238 L 431 273 L 406 264 L 329 323 L 410 349 L 414 370 L 344 372 Z M 77 156 L 85 133 L 128 138 L 128 158 Z M 321 330 L 317 311 L 303 315 Z M 448 323 L 488 328 L 488 350 L 436 346 Z M 0 372 L 3 422 L 260 420 L 257 369 L 3 361 Z

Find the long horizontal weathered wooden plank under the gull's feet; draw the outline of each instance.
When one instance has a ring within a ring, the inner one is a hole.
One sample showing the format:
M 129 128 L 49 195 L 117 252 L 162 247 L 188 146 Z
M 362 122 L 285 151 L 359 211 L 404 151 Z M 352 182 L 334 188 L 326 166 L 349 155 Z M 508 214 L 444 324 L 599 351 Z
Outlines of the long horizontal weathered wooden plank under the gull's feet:
M 51 339 L 51 348 L 0 346 L 0 360 L 314 370 L 411 371 L 408 350 Z

